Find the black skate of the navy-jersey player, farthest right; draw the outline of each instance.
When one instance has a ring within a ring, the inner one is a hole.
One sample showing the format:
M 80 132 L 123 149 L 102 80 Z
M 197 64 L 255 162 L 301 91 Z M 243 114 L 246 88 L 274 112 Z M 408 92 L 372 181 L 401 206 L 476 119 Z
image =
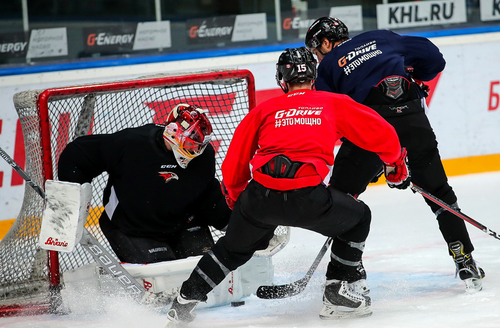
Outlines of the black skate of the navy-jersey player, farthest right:
M 450 243 L 450 250 L 457 266 L 456 275 L 465 283 L 467 293 L 476 293 L 483 289 L 482 279 L 485 274 L 483 269 L 477 266 L 472 254 L 464 254 L 464 247 L 460 241 Z

